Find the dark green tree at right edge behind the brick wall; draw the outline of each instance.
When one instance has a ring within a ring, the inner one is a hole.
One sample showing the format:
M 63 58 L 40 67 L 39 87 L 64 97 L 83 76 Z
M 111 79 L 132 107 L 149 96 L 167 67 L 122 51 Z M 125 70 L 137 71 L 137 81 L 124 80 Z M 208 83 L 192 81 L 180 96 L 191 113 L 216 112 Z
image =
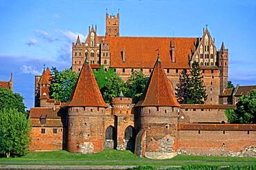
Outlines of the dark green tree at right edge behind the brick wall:
M 256 123 L 256 89 L 241 96 L 237 108 L 230 114 L 230 123 Z

